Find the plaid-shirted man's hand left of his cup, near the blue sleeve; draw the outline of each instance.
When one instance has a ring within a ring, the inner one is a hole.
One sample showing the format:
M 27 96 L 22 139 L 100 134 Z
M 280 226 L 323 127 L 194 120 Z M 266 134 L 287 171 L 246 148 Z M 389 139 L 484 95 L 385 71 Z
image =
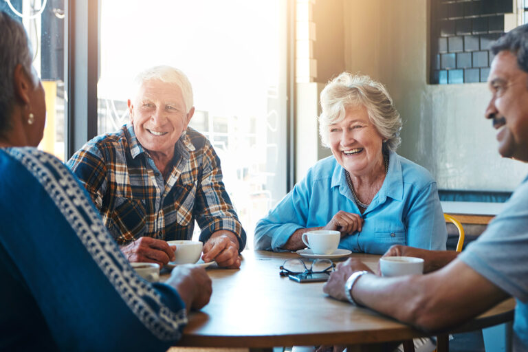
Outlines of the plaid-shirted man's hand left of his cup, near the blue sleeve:
M 161 239 L 140 237 L 139 239 L 121 247 L 129 262 L 157 263 L 163 267 L 175 259 L 174 249 Z

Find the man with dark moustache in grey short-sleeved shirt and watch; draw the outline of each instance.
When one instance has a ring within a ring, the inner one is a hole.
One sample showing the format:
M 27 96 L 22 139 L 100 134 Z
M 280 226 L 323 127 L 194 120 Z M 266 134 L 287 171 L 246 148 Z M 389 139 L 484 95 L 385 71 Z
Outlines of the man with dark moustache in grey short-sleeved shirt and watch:
M 528 162 L 528 25 L 502 36 L 492 50 L 492 98 L 486 118 L 497 129 L 503 157 Z M 385 256 L 425 259 L 419 276 L 381 278 L 349 259 L 338 265 L 324 291 L 370 307 L 426 331 L 458 325 L 514 296 L 514 351 L 528 351 L 528 177 L 503 212 L 464 252 L 394 246 Z

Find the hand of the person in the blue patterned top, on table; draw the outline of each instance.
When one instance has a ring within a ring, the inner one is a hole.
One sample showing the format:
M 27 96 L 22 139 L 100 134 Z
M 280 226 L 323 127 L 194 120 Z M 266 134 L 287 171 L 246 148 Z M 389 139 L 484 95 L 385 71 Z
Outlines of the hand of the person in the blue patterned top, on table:
M 165 283 L 177 290 L 187 311 L 201 309 L 209 303 L 211 298 L 211 279 L 206 270 L 198 265 L 178 265 Z

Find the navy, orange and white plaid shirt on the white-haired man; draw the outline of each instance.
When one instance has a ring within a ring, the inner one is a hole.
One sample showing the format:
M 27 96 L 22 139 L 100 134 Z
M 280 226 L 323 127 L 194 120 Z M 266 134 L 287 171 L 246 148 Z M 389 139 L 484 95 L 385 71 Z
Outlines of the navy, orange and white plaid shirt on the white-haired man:
M 229 230 L 245 247 L 245 231 L 222 181 L 220 159 L 207 138 L 188 128 L 175 145 L 165 181 L 135 136 L 132 124 L 90 140 L 67 162 L 120 244 L 142 236 L 190 239 L 197 221 L 200 241 Z

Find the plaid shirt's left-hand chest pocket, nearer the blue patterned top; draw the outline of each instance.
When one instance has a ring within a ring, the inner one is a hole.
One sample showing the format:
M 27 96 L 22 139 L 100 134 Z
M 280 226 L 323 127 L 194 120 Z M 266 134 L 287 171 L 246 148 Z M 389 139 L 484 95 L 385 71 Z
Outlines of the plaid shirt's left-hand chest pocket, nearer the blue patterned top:
M 146 209 L 143 200 L 115 197 L 112 217 L 120 230 L 118 243 L 125 243 L 144 236 Z

